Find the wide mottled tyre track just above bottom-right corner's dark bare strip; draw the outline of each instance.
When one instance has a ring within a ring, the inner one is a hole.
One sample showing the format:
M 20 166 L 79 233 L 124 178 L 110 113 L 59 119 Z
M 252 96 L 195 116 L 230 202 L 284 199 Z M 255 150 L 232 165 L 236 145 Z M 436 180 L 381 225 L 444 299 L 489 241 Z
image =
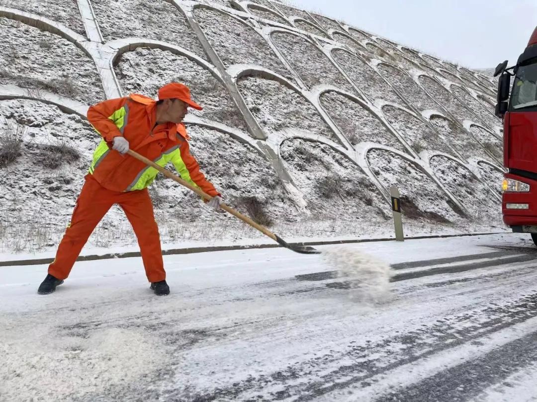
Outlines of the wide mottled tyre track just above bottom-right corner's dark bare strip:
M 418 362 L 469 342 L 479 343 L 482 337 L 534 317 L 537 317 L 537 291 L 513 303 L 504 305 L 490 303 L 484 309 L 438 320 L 431 325 L 423 325 L 418 330 L 374 343 L 366 341 L 365 345 L 360 345 L 353 341 L 339 353 L 325 354 L 298 364 L 289 364 L 285 370 L 275 371 L 270 375 L 250 377 L 230 387 L 198 394 L 193 400 L 242 399 L 302 402 L 315 400 L 329 392 L 344 390 L 357 384 L 361 384 L 362 388 L 367 388 L 374 385 L 370 382 L 372 377 L 383 372 Z M 338 366 L 338 361 L 354 361 L 355 363 Z M 337 368 L 333 369 L 334 367 Z M 303 382 L 308 381 L 308 378 L 316 379 L 304 386 Z M 301 384 L 295 385 L 297 379 L 302 379 Z M 279 389 L 279 391 L 267 394 L 267 387 Z

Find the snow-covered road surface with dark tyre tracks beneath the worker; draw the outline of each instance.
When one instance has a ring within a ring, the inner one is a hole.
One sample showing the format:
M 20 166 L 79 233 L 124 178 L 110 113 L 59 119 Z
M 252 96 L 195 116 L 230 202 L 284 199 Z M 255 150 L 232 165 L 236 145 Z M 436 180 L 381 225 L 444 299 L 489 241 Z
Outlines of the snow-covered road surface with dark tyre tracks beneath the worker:
M 166 256 L 167 297 L 139 258 L 78 262 L 48 296 L 46 266 L 3 267 L 0 400 L 534 401 L 528 237 L 346 246 L 391 265 L 375 304 L 282 248 Z

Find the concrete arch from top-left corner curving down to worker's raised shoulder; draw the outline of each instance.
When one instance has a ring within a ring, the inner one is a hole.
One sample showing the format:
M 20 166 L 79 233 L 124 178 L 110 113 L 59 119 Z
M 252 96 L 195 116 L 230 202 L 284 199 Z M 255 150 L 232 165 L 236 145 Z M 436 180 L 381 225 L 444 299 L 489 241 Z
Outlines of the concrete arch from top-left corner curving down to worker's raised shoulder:
M 115 87 L 117 81 L 114 82 L 115 75 L 113 75 L 113 72 L 103 65 L 101 44 L 99 42 L 91 42 L 81 34 L 72 31 L 63 24 L 56 23 L 56 21 L 38 16 L 37 14 L 0 6 L 0 17 L 20 21 L 25 25 L 33 26 L 41 31 L 50 32 L 71 42 L 77 48 L 81 49 L 84 54 L 86 54 L 95 64 L 96 72 L 101 78 L 101 85 L 103 86 L 106 97 L 110 98 L 114 97 L 114 95 L 117 95 L 118 92 Z

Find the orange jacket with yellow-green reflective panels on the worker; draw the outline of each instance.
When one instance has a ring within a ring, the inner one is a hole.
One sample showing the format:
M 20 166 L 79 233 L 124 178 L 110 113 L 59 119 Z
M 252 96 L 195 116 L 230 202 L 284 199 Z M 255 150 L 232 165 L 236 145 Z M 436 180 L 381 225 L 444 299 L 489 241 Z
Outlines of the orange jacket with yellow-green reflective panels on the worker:
M 130 155 L 112 150 L 113 138 L 124 136 L 129 148 L 161 166 L 172 162 L 181 177 L 211 196 L 220 195 L 190 154 L 188 135 L 180 123 L 156 123 L 156 101 L 139 94 L 105 100 L 88 109 L 88 120 L 103 140 L 93 153 L 89 173 L 112 191 L 146 188 L 158 171 Z

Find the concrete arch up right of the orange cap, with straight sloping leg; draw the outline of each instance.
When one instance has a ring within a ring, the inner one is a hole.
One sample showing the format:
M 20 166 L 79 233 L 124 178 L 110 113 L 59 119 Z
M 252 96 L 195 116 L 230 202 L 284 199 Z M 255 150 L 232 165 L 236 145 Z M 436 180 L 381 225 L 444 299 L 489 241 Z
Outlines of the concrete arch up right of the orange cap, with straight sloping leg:
M 243 69 L 241 69 L 241 67 Z M 232 76 L 234 77 L 235 83 L 238 79 L 245 77 L 245 76 L 251 76 L 251 77 L 258 77 L 263 79 L 270 79 L 272 81 L 276 81 L 280 83 L 281 85 L 286 86 L 288 89 L 296 92 L 299 94 L 304 100 L 306 100 L 310 105 L 312 105 L 316 112 L 321 116 L 321 119 L 330 127 L 333 134 L 338 138 L 338 141 L 343 145 L 343 147 L 347 149 L 352 149 L 352 144 L 347 140 L 347 138 L 341 133 L 339 128 L 336 126 L 336 124 L 332 121 L 332 118 L 329 116 L 328 113 L 322 108 L 320 101 L 318 100 L 317 93 L 320 92 L 325 86 L 320 85 L 317 87 L 314 87 L 311 89 L 311 91 L 303 90 L 296 85 L 294 85 L 292 82 L 290 82 L 285 77 L 282 77 L 281 75 L 277 74 L 274 71 L 264 69 L 264 68 L 253 68 L 251 65 L 235 65 L 234 70 L 231 71 Z

